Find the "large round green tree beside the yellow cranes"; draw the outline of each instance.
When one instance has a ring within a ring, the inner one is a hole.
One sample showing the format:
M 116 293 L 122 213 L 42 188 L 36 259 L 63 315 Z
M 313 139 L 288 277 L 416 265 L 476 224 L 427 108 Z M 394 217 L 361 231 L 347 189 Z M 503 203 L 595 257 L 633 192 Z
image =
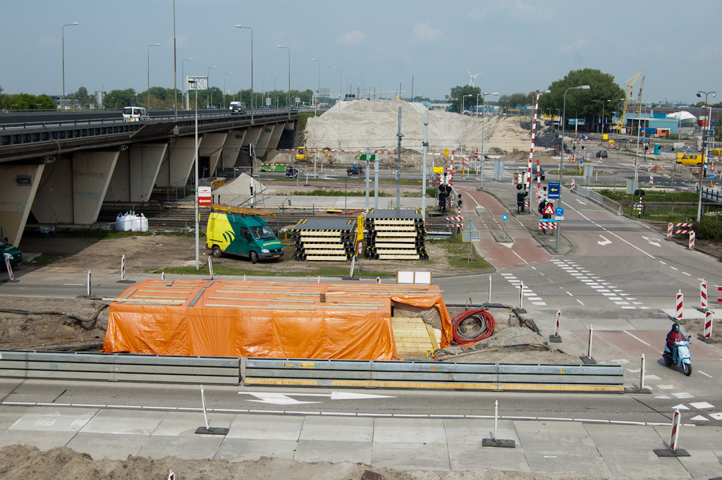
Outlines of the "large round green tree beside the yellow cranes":
M 604 108 L 604 116 L 612 113 L 619 99 L 625 97 L 625 91 L 614 82 L 614 76 L 601 70 L 572 70 L 563 79 L 549 85 L 551 93 L 539 97 L 539 109 L 552 111 L 564 107 L 564 92 L 570 87 L 589 85 L 590 90 L 569 90 L 567 93 L 567 112 L 589 121 L 600 118 Z M 597 101 L 599 100 L 599 101 Z M 602 107 L 604 105 L 604 107 Z M 567 115 L 569 118 L 569 115 Z

